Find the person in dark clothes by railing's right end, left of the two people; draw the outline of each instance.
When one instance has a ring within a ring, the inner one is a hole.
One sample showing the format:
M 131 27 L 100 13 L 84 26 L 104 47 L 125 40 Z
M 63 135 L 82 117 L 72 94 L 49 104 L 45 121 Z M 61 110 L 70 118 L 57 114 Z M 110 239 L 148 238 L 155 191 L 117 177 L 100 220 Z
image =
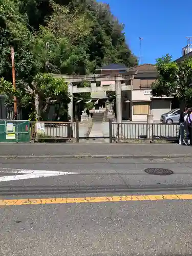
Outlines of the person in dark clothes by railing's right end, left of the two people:
M 188 108 L 185 107 L 184 111 L 180 113 L 179 117 L 179 124 L 180 124 L 180 130 L 179 130 L 179 145 L 186 145 L 185 142 L 185 131 L 188 136 L 188 125 L 186 123 L 186 116 L 188 113 Z

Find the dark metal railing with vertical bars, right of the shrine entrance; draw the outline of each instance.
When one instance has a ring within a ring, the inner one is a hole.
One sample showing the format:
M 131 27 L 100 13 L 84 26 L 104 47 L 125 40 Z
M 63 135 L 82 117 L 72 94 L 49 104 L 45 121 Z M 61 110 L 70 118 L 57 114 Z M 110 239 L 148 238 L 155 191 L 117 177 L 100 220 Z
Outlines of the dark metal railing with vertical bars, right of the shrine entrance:
M 112 123 L 109 125 L 110 142 L 115 140 L 169 140 L 179 138 L 179 124 Z

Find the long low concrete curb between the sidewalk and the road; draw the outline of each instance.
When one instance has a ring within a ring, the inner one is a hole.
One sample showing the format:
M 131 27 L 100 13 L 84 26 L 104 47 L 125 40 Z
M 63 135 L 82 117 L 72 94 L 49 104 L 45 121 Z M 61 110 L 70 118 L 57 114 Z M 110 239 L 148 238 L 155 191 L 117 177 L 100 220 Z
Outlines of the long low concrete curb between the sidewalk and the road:
M 25 158 L 186 158 L 186 157 L 192 157 L 192 154 L 170 154 L 170 155 L 95 155 L 95 154 L 79 154 L 79 155 L 41 155 L 41 156 L 35 156 L 35 155 L 6 155 L 6 156 L 0 156 L 0 159 L 13 159 L 13 158 L 19 158 L 19 159 L 25 159 Z

